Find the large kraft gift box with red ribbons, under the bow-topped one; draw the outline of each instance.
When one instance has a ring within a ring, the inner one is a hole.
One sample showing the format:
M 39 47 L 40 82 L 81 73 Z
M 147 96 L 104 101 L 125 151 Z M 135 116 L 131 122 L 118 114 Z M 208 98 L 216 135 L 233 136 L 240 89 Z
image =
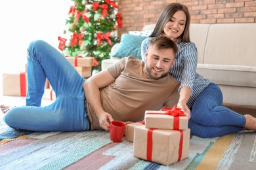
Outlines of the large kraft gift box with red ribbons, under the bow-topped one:
M 135 127 L 133 156 L 171 165 L 188 158 L 190 129 L 147 129 L 145 126 Z

